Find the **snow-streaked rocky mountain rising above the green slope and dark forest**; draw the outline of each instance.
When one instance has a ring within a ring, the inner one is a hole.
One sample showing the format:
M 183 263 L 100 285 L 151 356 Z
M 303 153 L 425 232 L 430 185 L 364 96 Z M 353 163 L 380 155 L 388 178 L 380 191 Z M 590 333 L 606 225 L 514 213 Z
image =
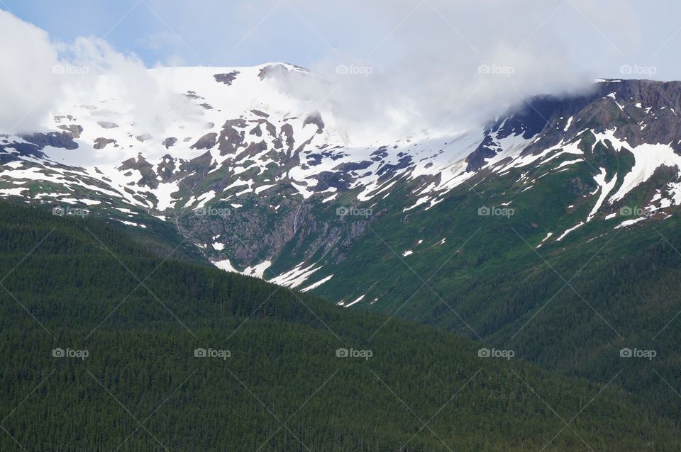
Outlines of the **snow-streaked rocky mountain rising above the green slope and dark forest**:
M 175 96 L 165 111 L 131 108 L 119 96 L 125 87 L 102 76 L 96 98 L 74 95 L 45 131 L 2 135 L 0 196 L 88 208 L 133 227 L 167 221 L 217 266 L 304 290 L 349 265 L 374 222 L 442 215 L 436 206 L 460 193 L 510 205 L 543 178 L 585 169 L 579 203 L 564 208 L 587 203 L 589 212 L 541 245 L 621 217 L 624 201 L 660 172 L 669 177 L 637 198 L 640 215 L 614 227 L 681 203 L 679 82 L 602 80 L 580 96 L 529 99 L 484 130 L 360 146 L 333 108 L 286 89 L 326 83 L 291 64 L 149 76 Z M 513 188 L 494 193 L 510 176 Z

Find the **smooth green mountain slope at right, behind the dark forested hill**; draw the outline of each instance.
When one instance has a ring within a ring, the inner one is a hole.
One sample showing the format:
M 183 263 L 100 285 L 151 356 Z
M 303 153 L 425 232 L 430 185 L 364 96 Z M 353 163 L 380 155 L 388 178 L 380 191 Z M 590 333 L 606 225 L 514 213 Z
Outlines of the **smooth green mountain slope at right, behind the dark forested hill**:
M 584 145 L 591 149 L 594 142 L 587 136 Z M 536 183 L 526 191 L 518 182 L 523 171 L 514 170 L 475 185 L 475 192 L 460 188 L 424 213 L 404 217 L 386 205 L 372 232 L 344 251 L 352 259 L 316 293 L 332 300 L 365 295 L 375 303 L 355 307 L 514 349 L 567 375 L 607 380 L 624 368 L 626 378 L 616 384 L 640 395 L 647 409 L 677 416 L 680 210 L 666 208 L 617 227 L 643 216 L 621 212 L 648 205 L 670 175 L 658 170 L 612 207 L 616 217 L 599 213 L 558 242 L 594 208 L 598 196 L 585 195 L 598 188 L 598 170 L 606 169 L 608 180 L 619 175 L 614 193 L 631 168 L 626 150 L 616 153 L 608 143 L 593 149 L 586 162 L 546 178 L 546 170 L 537 169 L 531 176 Z M 477 214 L 482 205 L 506 203 L 514 215 Z M 406 250 L 413 253 L 403 256 Z M 657 356 L 622 359 L 625 348 Z

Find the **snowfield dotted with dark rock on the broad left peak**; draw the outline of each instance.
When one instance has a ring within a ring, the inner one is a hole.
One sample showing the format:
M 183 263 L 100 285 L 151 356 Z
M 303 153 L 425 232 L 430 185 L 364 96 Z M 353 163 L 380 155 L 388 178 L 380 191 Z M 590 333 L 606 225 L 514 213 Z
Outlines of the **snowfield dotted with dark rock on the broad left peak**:
M 357 198 L 365 201 L 395 175 L 441 174 L 435 187 L 451 185 L 480 140 L 477 132 L 350 147 L 333 115 L 307 111 L 304 99 L 279 89 L 291 74 L 301 83 L 316 77 L 289 64 L 150 69 L 159 86 L 184 96 L 175 108 L 194 108 L 161 130 L 138 123 L 116 98 L 115 82 L 101 77 L 101 98 L 66 102 L 45 124 L 50 132 L 3 136 L 2 180 L 9 186 L 2 193 L 68 202 L 82 199 L 73 196 L 78 188 L 96 195 L 99 187 L 100 195 L 155 213 L 196 210 L 217 199 L 235 206 L 241 196 L 283 187 L 302 198 L 326 193 L 327 201 L 362 188 Z M 197 177 L 216 180 L 192 193 Z M 55 191 L 22 189 L 21 180 L 52 182 Z

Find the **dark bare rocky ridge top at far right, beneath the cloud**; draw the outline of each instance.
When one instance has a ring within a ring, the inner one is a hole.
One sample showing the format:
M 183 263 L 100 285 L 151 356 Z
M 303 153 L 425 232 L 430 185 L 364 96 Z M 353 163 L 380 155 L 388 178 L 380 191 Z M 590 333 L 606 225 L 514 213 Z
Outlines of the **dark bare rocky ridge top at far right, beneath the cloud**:
M 616 127 L 614 136 L 632 147 L 643 143 L 675 143 L 681 132 L 681 82 L 650 80 L 602 81 L 581 96 L 536 96 L 489 126 L 486 136 L 466 159 L 467 171 L 477 171 L 497 155 L 499 140 L 522 134 L 539 135 L 524 149 L 536 154 L 569 142 L 585 129 L 604 132 Z M 645 126 L 643 126 L 645 125 Z

